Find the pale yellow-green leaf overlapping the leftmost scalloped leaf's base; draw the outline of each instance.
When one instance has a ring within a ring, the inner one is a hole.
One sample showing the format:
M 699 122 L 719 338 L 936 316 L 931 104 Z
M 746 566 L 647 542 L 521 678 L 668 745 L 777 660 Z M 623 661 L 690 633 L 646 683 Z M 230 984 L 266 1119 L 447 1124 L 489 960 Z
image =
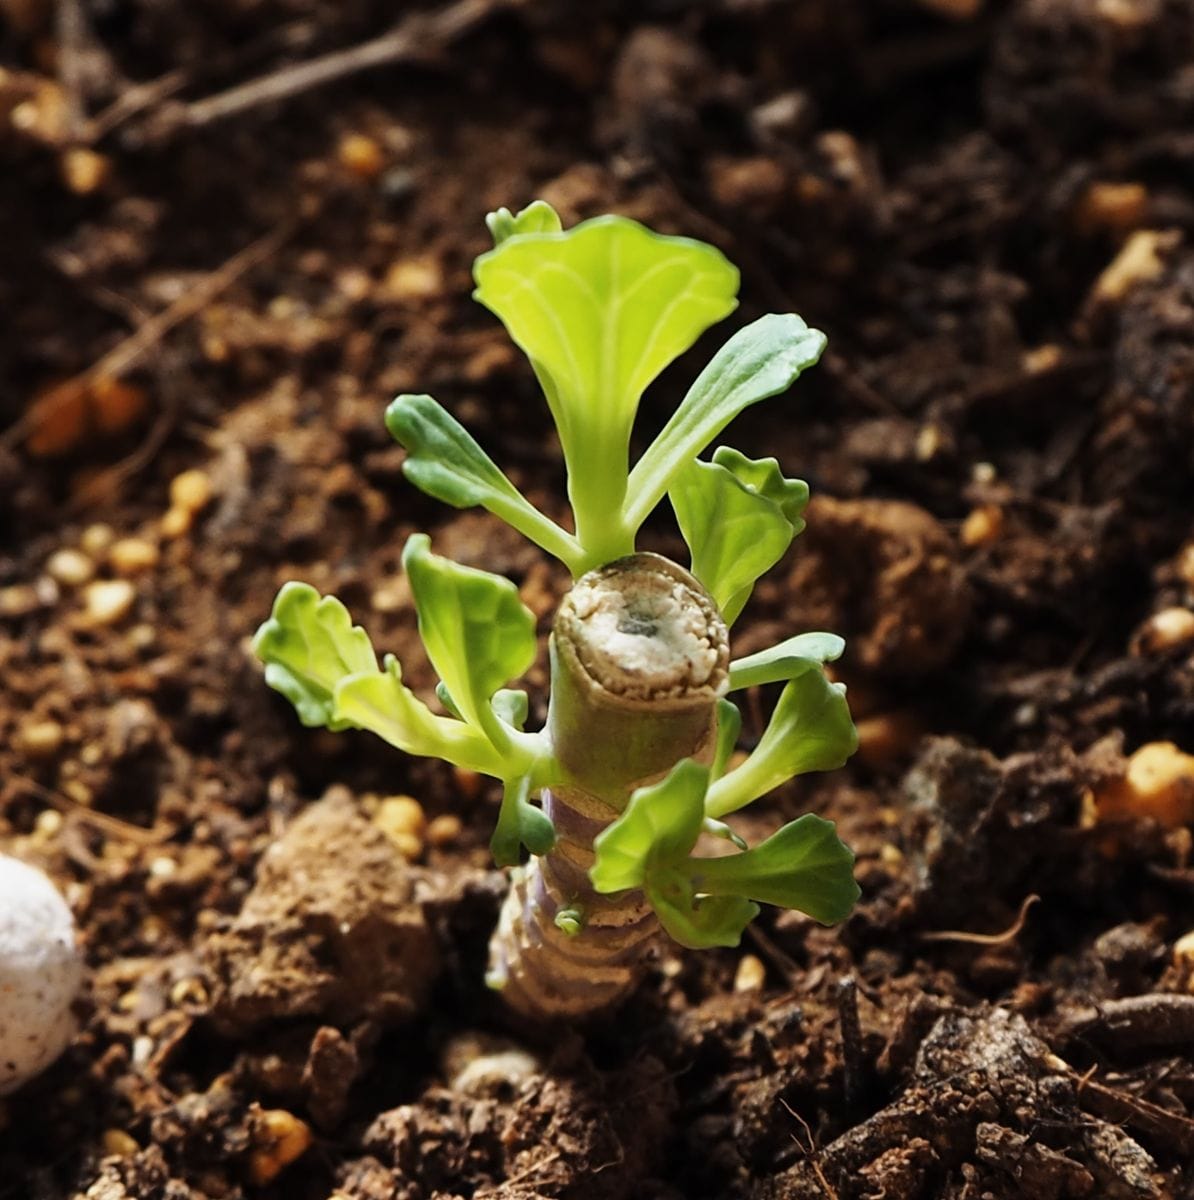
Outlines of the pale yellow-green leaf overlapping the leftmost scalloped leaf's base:
M 439 716 L 402 682 L 402 668 L 386 655 L 385 670 L 346 676 L 336 685 L 341 728 L 368 730 L 407 754 L 444 758 L 485 775 L 503 778 L 510 762 L 470 725 Z

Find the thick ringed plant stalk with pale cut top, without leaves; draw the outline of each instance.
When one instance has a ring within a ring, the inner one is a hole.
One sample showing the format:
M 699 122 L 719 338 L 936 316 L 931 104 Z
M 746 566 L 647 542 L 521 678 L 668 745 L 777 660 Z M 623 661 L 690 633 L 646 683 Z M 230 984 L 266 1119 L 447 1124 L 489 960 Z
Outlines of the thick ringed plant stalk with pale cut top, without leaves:
M 636 787 L 708 758 L 728 661 L 716 605 L 658 554 L 590 571 L 560 605 L 547 730 L 569 782 L 544 796 L 556 846 L 515 872 L 490 944 L 490 983 L 523 1015 L 588 1016 L 637 984 L 658 922 L 641 890 L 593 889 L 593 840 Z

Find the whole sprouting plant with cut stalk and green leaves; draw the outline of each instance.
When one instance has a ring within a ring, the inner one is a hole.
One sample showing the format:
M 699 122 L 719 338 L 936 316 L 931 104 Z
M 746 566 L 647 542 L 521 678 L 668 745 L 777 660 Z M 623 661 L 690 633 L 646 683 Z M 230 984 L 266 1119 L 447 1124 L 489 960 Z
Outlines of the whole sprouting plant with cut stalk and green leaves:
M 527 1015 L 580 1018 L 630 991 L 659 926 L 695 949 L 737 946 L 760 902 L 829 924 L 858 898 L 832 822 L 805 815 L 748 848 L 722 820 L 794 775 L 840 767 L 857 736 L 845 689 L 823 670 L 840 637 L 800 634 L 730 656 L 727 628 L 804 528 L 808 487 L 774 458 L 728 446 L 697 457 L 738 413 L 812 366 L 826 340 L 796 316 L 739 330 L 630 469 L 640 397 L 737 307 L 738 271 L 712 246 L 623 217 L 564 230 L 542 202 L 487 223 L 494 248 L 475 263 L 474 295 L 542 388 L 575 532 L 538 511 L 431 396 L 398 396 L 385 422 L 416 487 L 487 509 L 571 571 L 551 637 L 546 727 L 524 728 L 527 694 L 509 686 L 535 656 L 517 589 L 432 553 L 425 534 L 402 562 L 443 713 L 402 682 L 392 655 L 378 665 L 338 600 L 307 584 L 282 588 L 254 648 L 305 725 L 370 730 L 502 780 L 491 846 L 514 871 L 488 980 Z M 689 570 L 635 551 L 664 497 Z M 761 684 L 782 684 L 779 701 L 731 769 L 742 721 L 726 697 Z M 734 848 L 698 854 L 702 834 Z

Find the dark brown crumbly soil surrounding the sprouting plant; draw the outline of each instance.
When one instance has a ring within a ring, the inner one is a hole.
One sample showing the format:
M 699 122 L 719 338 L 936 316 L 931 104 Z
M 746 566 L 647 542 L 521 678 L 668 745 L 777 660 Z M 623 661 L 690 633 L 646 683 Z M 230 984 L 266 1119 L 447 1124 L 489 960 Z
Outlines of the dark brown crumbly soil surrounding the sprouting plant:
M 426 4 L 386 65 L 204 102 L 396 7 L 0 0 L 0 850 L 90 965 L 0 1102 L 0 1196 L 1194 1195 L 1194 804 L 1090 821 L 1124 755 L 1194 750 L 1194 642 L 1144 628 L 1194 602 L 1194 4 Z M 415 529 L 550 612 L 560 574 L 407 486 L 380 420 L 434 392 L 558 512 L 468 295 L 485 211 L 535 196 L 718 244 L 734 328 L 828 331 L 732 434 L 822 498 L 736 650 L 847 635 L 864 734 L 748 827 L 840 822 L 844 928 L 769 911 L 551 1038 L 482 984 L 493 790 L 302 731 L 246 644 L 304 578 L 426 688 Z M 210 498 L 167 516 L 185 470 Z M 392 793 L 462 832 L 406 864 Z

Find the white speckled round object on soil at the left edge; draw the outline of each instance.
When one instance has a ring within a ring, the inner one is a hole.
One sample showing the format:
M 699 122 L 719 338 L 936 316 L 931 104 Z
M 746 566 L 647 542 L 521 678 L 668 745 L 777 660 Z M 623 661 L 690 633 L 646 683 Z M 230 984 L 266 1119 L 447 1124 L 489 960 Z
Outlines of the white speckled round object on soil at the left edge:
M 70 1044 L 83 980 L 74 918 L 38 870 L 0 854 L 0 1096 Z

